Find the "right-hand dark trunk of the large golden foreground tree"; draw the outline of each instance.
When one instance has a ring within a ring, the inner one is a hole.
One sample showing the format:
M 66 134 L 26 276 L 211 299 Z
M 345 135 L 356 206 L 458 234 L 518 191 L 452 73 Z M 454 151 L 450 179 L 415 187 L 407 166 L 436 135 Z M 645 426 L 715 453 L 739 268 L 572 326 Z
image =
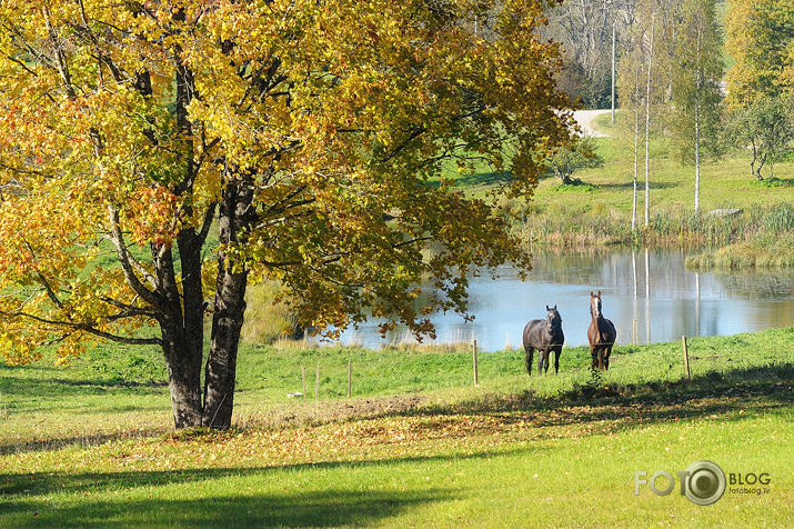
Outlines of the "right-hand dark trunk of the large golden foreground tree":
M 209 428 L 231 427 L 234 407 L 237 355 L 243 316 L 248 269 L 228 251 L 241 241 L 252 226 L 253 183 L 249 178 L 228 181 L 220 207 L 218 281 L 212 317 L 212 342 L 204 371 L 204 410 L 202 425 Z

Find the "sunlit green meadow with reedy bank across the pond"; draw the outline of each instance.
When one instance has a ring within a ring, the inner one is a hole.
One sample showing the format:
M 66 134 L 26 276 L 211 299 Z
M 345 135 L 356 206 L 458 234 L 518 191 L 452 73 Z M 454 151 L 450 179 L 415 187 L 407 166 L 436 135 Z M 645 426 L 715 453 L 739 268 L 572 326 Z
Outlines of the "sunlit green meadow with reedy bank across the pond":
M 592 247 L 703 247 L 707 268 L 790 268 L 794 263 L 794 162 L 775 166 L 775 178 L 750 174 L 746 152 L 705 159 L 701 168 L 701 212 L 694 210 L 695 170 L 675 159 L 664 138 L 651 143 L 649 223 L 645 226 L 644 146 L 637 167 L 637 217 L 632 230 L 633 144 L 620 139 L 609 113 L 596 118 L 597 168 L 576 170 L 574 183 L 541 178 L 532 197 L 497 199 L 529 250 L 582 251 Z M 450 174 L 452 177 L 452 174 Z M 506 178 L 502 176 L 501 178 Z M 492 189 L 499 180 L 486 168 L 461 179 L 472 193 Z M 738 210 L 721 216 L 714 210 Z M 770 247 L 771 241 L 776 241 Z M 718 249 L 736 244 L 722 254 Z

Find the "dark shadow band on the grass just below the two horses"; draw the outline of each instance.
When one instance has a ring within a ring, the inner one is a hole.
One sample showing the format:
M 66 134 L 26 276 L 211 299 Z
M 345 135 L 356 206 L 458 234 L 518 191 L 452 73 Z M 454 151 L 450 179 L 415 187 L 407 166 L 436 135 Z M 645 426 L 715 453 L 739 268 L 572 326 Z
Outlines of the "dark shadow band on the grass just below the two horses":
M 640 385 L 590 383 L 549 397 L 531 390 L 510 396 L 483 396 L 454 405 L 434 405 L 400 411 L 401 416 L 493 415 L 502 422 L 531 421 L 533 426 L 571 427 L 610 422 L 615 432 L 647 422 L 698 419 L 731 412 L 766 412 L 794 406 L 794 365 L 710 371 L 692 380 Z M 384 413 L 388 415 L 388 413 Z M 731 420 L 730 416 L 727 417 Z M 597 432 L 596 428 L 590 432 Z

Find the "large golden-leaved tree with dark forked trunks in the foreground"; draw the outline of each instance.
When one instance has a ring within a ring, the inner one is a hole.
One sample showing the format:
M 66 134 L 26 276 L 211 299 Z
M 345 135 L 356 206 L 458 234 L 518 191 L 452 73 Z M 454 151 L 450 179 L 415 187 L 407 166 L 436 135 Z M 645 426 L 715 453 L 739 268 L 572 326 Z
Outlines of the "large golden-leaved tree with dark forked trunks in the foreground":
M 499 211 L 429 179 L 484 159 L 527 194 L 566 141 L 544 0 L 1 6 L 11 363 L 157 346 L 174 426 L 228 428 L 250 282 L 279 280 L 321 331 L 371 315 L 432 335 L 472 273 L 530 267 Z

